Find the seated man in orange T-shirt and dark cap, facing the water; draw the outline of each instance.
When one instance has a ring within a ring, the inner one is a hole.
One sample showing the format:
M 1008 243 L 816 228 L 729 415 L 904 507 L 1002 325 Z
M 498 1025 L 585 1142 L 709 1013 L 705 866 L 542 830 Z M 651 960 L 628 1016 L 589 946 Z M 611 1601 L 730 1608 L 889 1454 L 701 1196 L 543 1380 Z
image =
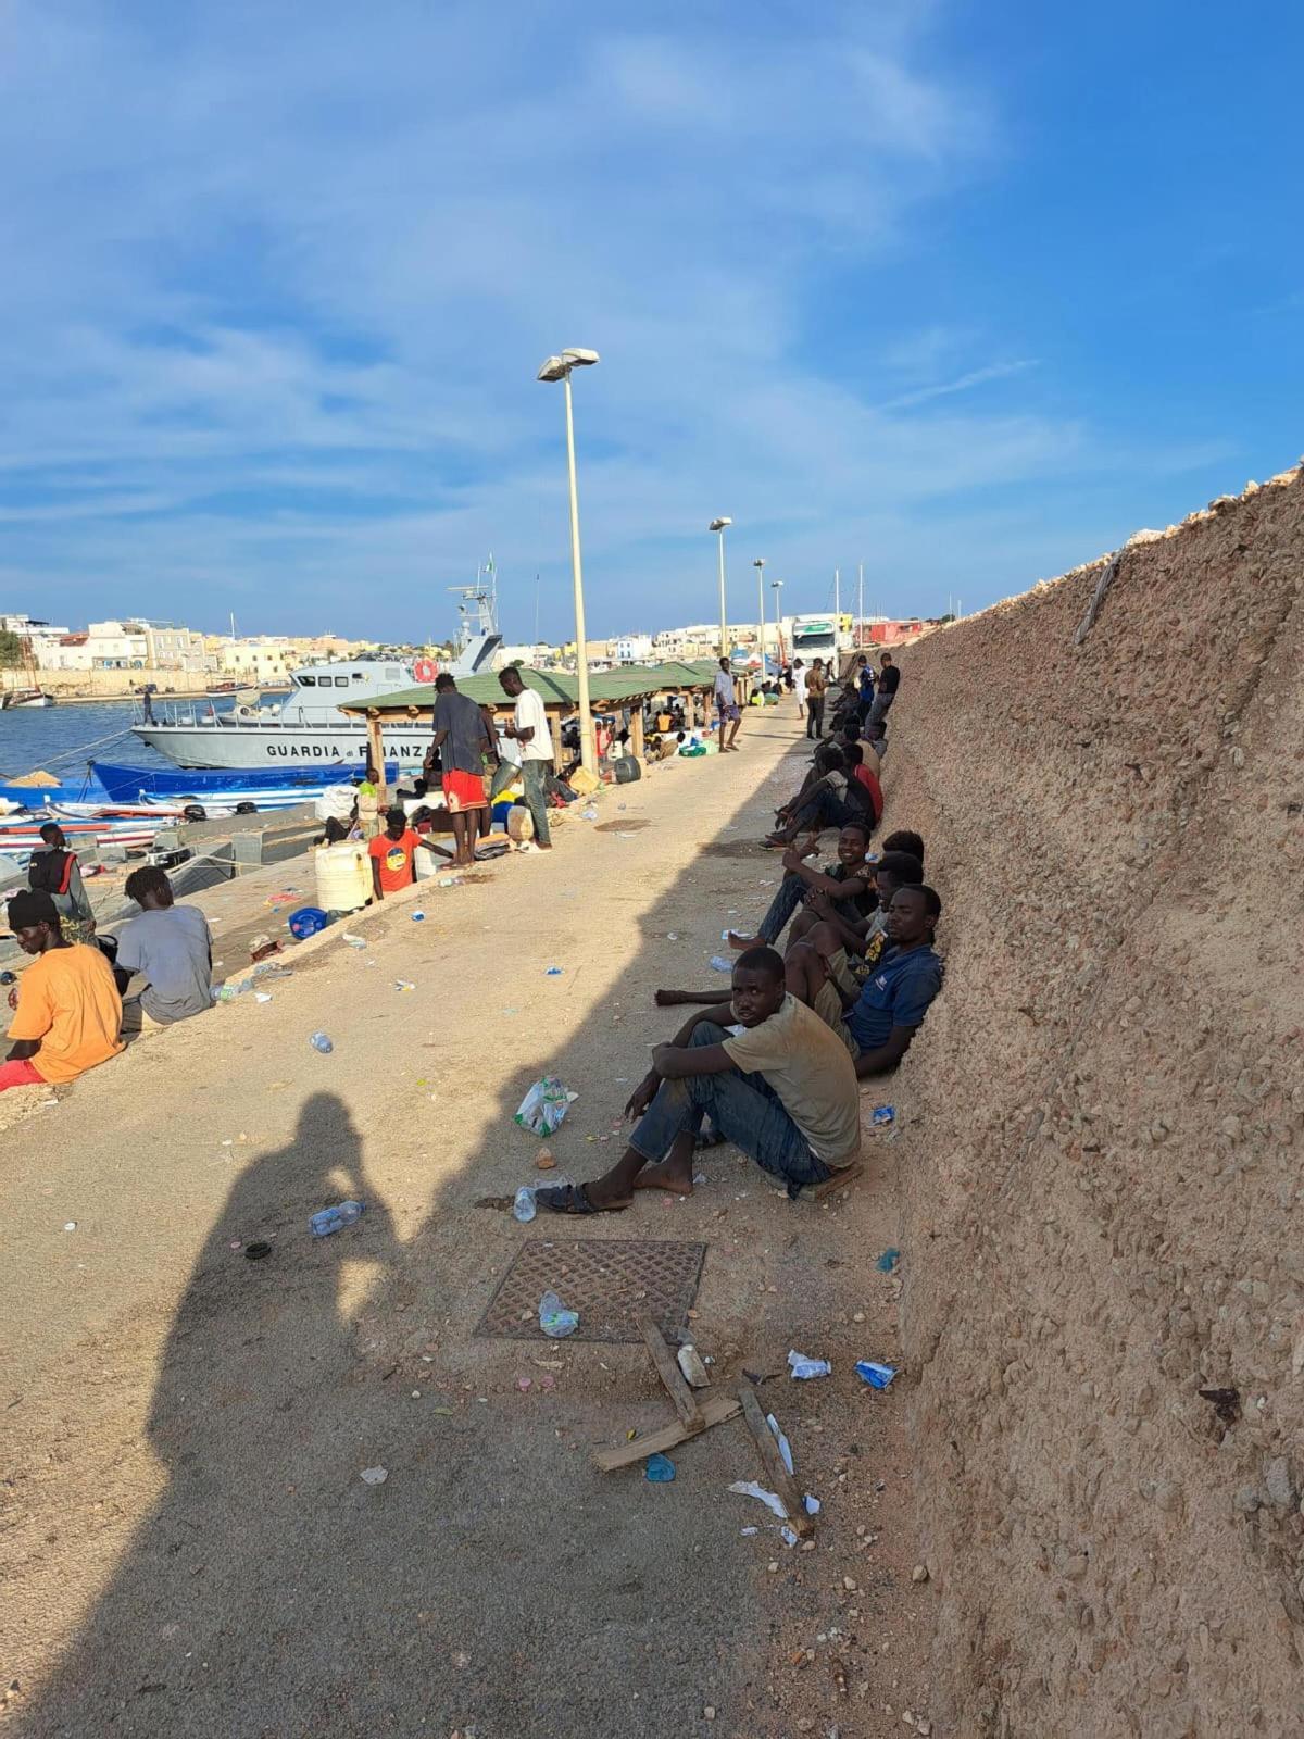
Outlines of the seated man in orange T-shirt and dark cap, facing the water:
M 66 943 L 49 894 L 30 890 L 9 901 L 9 929 L 33 963 L 10 993 L 16 1040 L 0 1064 L 5 1087 L 63 1087 L 122 1050 L 122 1002 L 99 948 Z

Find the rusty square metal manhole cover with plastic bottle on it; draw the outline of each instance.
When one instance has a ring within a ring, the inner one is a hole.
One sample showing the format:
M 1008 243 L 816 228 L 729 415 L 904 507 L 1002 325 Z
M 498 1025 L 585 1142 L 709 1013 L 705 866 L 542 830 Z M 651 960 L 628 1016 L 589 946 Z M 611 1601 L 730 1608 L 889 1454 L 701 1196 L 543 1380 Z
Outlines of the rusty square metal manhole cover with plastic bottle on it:
M 523 1245 L 475 1330 L 480 1337 L 541 1341 L 539 1299 L 551 1287 L 579 1311 L 572 1341 L 642 1341 L 633 1311 L 647 1309 L 673 1341 L 697 1297 L 704 1243 L 652 1238 L 541 1238 Z

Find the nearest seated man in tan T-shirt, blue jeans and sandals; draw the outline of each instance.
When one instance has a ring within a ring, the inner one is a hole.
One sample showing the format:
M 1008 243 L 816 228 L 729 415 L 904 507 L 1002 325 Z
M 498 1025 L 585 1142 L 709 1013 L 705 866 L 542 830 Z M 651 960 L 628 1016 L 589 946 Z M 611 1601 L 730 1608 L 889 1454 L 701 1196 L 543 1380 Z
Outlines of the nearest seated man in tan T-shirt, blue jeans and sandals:
M 807 1184 L 847 1177 L 861 1151 L 847 1049 L 788 995 L 784 963 L 772 948 L 739 955 L 732 1000 L 694 1016 L 669 1045 L 657 1045 L 626 1116 L 640 1122 L 615 1165 L 588 1184 L 539 1189 L 541 1209 L 612 1214 L 631 1207 L 638 1188 L 692 1195 L 694 1143 L 704 1116 L 786 1183 L 789 1196 Z M 647 1165 L 652 1169 L 640 1177 Z

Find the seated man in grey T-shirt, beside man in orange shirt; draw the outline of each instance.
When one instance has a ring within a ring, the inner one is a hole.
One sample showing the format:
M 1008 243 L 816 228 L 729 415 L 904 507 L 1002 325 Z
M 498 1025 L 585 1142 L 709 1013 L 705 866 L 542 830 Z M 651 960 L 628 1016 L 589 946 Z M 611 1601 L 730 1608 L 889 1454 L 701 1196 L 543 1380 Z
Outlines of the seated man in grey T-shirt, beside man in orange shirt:
M 141 908 L 118 930 L 113 977 L 123 996 L 123 1033 L 153 1033 L 212 1007 L 212 936 L 198 906 L 176 906 L 167 871 L 148 866 L 127 876 L 127 899 Z M 127 996 L 132 974 L 144 988 Z

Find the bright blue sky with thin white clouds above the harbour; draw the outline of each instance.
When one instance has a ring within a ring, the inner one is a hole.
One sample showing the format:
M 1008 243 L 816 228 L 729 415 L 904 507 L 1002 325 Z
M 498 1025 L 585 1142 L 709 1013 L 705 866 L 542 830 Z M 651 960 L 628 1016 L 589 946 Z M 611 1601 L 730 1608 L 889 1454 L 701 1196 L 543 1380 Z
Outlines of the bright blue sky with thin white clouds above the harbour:
M 0 0 L 0 607 L 977 607 L 1304 447 L 1297 7 Z

